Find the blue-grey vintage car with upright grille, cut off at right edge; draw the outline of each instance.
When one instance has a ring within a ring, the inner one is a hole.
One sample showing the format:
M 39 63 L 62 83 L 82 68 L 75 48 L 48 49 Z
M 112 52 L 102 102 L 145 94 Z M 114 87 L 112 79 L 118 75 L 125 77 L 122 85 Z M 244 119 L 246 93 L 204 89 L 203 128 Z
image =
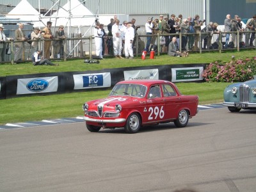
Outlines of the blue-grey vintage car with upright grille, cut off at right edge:
M 231 112 L 256 109 L 256 79 L 228 85 L 224 90 L 223 105 Z

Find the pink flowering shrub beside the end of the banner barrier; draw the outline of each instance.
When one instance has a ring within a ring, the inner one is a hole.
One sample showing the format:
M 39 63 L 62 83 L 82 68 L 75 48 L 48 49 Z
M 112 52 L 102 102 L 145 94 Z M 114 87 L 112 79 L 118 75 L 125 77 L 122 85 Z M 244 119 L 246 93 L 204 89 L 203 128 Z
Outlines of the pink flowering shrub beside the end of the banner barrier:
M 256 76 L 256 56 L 237 59 L 232 56 L 229 63 L 215 61 L 207 65 L 203 78 L 207 82 L 243 82 Z

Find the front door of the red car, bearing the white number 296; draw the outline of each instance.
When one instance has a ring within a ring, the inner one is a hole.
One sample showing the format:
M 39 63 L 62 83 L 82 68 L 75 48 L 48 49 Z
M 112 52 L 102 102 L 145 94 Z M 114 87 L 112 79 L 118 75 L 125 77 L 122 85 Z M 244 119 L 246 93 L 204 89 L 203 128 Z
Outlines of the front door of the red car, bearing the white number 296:
M 154 92 L 152 91 L 154 89 Z M 155 94 L 155 95 L 150 95 Z M 161 122 L 165 119 L 165 103 L 163 93 L 159 84 L 154 84 L 148 90 L 145 100 L 145 107 L 143 109 L 143 122 L 150 124 L 154 122 Z

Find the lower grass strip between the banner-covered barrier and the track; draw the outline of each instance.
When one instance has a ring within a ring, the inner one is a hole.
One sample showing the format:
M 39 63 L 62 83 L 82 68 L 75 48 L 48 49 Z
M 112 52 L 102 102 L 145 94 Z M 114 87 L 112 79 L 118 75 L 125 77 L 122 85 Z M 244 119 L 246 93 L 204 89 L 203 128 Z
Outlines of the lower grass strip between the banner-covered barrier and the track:
M 223 101 L 223 90 L 230 83 L 177 83 L 184 95 L 198 95 L 200 104 Z M 60 95 L 19 97 L 0 100 L 0 124 L 51 118 L 83 116 L 82 105 L 107 97 L 110 90 L 84 91 Z

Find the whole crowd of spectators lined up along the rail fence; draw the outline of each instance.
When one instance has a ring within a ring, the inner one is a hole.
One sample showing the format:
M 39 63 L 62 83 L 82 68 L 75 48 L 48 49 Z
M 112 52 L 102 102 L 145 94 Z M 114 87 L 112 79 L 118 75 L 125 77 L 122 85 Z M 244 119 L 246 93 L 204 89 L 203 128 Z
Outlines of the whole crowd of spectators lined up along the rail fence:
M 171 47 L 173 47 L 173 42 L 175 42 L 175 49 L 180 50 L 179 33 L 181 33 L 182 38 L 182 51 L 199 51 L 198 46 L 200 42 L 202 42 L 202 49 L 214 49 L 216 47 L 213 47 L 212 36 L 214 34 L 220 34 L 220 31 L 217 29 L 218 23 L 209 22 L 209 24 L 205 24 L 205 20 L 201 20 L 199 15 L 183 18 L 181 14 L 178 17 L 172 14 L 170 15 L 170 19 L 164 15 L 159 15 L 159 18 L 156 19 L 148 17 L 145 22 L 145 34 L 147 35 L 147 42 L 145 44 L 141 38 L 136 39 L 136 35 L 138 34 L 137 30 L 140 26 L 136 26 L 135 23 L 136 19 L 131 19 L 131 21 L 124 20 L 124 22 L 120 24 L 120 20 L 118 20 L 115 15 L 114 18 L 110 20 L 107 26 L 108 33 L 106 33 L 104 31 L 104 25 L 96 22 L 93 35 L 95 37 L 95 54 L 97 58 L 103 59 L 104 54 L 112 54 L 118 59 L 124 59 L 124 56 L 127 59 L 132 59 L 134 58 L 136 41 L 138 41 L 139 52 L 157 51 L 157 49 L 159 49 L 160 52 L 167 52 L 173 56 L 169 47 L 170 44 L 172 44 Z M 248 19 L 246 24 L 244 24 L 241 17 L 238 15 L 234 15 L 232 19 L 231 15 L 227 14 L 225 20 L 223 20 L 223 24 L 225 27 L 224 33 L 222 33 L 221 36 L 225 38 L 223 48 L 234 48 L 237 44 L 241 47 L 255 46 L 253 41 L 255 40 L 256 15 L 253 15 L 253 17 Z M 52 22 L 49 21 L 43 30 L 34 28 L 31 33 L 31 40 L 44 38 L 43 53 L 45 59 L 60 58 L 63 56 L 63 40 L 65 39 L 64 26 L 59 26 L 54 34 L 52 34 L 51 26 Z M 16 63 L 22 60 L 22 52 L 24 52 L 24 45 L 22 45 L 22 43 L 27 40 L 23 28 L 24 24 L 19 24 L 19 28 L 15 30 L 14 40 L 19 41 L 15 42 L 14 60 Z M 230 31 L 239 33 L 238 41 L 237 33 L 229 33 Z M 200 32 L 202 34 L 201 40 L 199 39 Z M 160 35 L 160 47 L 157 46 L 156 34 Z M 0 37 L 1 42 L 10 40 L 10 38 L 6 38 L 3 33 L 3 24 L 0 24 Z M 38 48 L 38 42 L 33 41 L 31 44 L 31 53 L 33 54 L 38 51 Z M 0 44 L 0 61 L 3 61 L 5 49 L 4 44 Z M 177 52 L 174 56 L 177 56 Z

